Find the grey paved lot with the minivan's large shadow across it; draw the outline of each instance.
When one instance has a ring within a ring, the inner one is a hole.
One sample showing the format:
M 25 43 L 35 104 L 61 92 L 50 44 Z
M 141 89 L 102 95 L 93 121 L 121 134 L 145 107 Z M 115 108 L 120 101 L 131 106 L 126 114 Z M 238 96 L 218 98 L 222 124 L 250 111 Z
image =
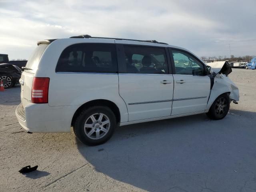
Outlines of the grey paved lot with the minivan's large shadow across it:
M 74 133 L 28 134 L 0 92 L 0 191 L 256 191 L 256 70 L 233 69 L 240 89 L 223 120 L 205 114 L 120 127 L 88 147 Z M 38 170 L 22 175 L 24 166 Z

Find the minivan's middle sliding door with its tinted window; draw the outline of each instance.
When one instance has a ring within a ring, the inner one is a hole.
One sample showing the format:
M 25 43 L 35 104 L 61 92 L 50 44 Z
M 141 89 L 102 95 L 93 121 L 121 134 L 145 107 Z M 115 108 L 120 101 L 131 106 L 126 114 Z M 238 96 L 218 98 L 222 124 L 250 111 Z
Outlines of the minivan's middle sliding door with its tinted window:
M 128 108 L 129 121 L 170 116 L 173 76 L 168 74 L 168 50 L 119 45 L 118 51 L 123 52 L 118 61 L 119 93 Z

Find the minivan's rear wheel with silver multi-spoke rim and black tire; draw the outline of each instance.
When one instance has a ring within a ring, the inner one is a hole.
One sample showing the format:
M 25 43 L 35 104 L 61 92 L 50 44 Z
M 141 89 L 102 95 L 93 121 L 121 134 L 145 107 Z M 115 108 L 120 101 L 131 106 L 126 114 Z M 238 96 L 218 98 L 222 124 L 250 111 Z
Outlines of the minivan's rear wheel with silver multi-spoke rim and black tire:
M 94 146 L 108 141 L 116 128 L 116 116 L 105 106 L 94 106 L 80 112 L 74 122 L 74 133 L 80 142 Z

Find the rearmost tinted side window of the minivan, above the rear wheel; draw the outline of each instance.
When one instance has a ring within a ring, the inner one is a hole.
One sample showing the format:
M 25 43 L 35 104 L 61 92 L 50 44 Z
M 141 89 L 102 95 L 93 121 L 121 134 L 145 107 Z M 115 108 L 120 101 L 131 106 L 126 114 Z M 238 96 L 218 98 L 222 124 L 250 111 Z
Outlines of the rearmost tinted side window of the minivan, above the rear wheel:
M 60 55 L 56 72 L 116 73 L 115 45 L 80 43 L 68 46 Z

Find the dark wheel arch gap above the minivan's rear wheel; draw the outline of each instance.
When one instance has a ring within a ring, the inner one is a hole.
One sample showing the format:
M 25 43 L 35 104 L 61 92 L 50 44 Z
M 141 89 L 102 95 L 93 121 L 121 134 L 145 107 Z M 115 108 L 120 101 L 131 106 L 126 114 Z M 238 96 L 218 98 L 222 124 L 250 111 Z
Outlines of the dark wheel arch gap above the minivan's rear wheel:
M 74 120 L 76 119 L 76 117 L 80 114 L 80 112 L 86 108 L 92 107 L 92 106 L 107 106 L 109 107 L 115 114 L 116 116 L 116 122 L 119 123 L 120 122 L 120 110 L 118 108 L 118 106 L 110 101 L 110 100 L 105 100 L 105 99 L 96 99 L 96 100 L 91 100 L 88 101 L 84 104 L 82 104 L 74 113 L 73 117 L 72 117 L 72 121 L 71 121 L 71 126 L 73 126 L 74 124 Z

